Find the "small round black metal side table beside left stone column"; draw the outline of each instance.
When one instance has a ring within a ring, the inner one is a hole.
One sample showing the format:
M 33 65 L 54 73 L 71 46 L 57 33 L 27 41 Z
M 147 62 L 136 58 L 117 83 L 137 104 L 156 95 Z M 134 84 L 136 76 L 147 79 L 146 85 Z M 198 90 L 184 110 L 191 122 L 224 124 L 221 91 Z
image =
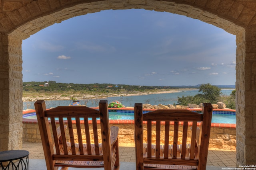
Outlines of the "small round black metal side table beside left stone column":
M 29 170 L 29 152 L 27 150 L 7 150 L 0 152 L 0 166 L 2 170 Z M 13 160 L 17 160 L 13 162 Z M 8 162 L 6 166 L 2 162 Z M 18 162 L 18 163 L 17 163 Z

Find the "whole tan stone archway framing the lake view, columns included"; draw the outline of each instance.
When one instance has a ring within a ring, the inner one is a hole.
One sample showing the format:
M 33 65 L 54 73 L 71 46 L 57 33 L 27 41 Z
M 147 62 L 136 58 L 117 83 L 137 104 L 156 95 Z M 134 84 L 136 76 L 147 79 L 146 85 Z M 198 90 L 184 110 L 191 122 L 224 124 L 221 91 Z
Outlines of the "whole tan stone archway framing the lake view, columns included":
M 3 0 L 0 15 L 0 150 L 22 145 L 22 39 L 54 23 L 107 9 L 142 8 L 188 16 L 236 35 L 237 165 L 256 164 L 256 2 L 238 0 Z M 7 100 L 7 102 L 6 102 Z

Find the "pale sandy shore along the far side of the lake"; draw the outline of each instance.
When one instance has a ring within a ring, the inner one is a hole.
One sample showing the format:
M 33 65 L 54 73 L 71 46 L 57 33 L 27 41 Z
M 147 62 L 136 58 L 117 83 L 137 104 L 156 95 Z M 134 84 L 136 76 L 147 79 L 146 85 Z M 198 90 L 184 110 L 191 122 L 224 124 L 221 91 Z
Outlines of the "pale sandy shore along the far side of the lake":
M 170 90 L 158 90 L 156 92 L 132 92 L 127 93 L 124 92 L 122 94 L 113 94 L 113 93 L 104 93 L 104 94 L 72 94 L 72 96 L 76 96 L 77 100 L 83 99 L 94 99 L 94 98 L 107 98 L 107 97 L 116 97 L 116 96 L 141 96 L 148 94 L 163 94 L 163 93 L 175 93 L 181 92 L 182 90 L 195 90 L 195 89 L 170 89 Z M 23 102 L 28 101 L 36 101 L 36 100 L 70 100 L 71 96 L 63 96 L 63 94 L 53 94 L 53 95 L 44 95 L 38 94 L 38 96 L 27 95 L 26 97 L 22 97 Z

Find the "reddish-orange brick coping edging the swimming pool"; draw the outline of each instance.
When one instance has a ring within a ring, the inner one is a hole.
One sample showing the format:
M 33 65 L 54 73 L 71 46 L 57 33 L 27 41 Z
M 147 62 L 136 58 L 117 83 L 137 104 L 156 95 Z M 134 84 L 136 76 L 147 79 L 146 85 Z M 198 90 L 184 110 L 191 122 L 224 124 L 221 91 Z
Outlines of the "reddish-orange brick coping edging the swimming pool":
M 98 109 L 98 107 L 91 107 L 93 109 Z M 134 110 L 133 108 L 108 108 L 110 110 Z M 143 111 L 154 111 L 156 109 L 143 109 Z M 188 108 L 190 111 L 202 111 L 202 108 Z M 213 109 L 214 111 L 233 111 L 236 112 L 234 109 Z M 36 112 L 35 109 L 28 109 L 28 110 L 23 110 L 22 113 L 31 113 L 31 112 Z M 75 121 L 74 121 L 75 122 Z M 26 119 L 22 118 L 22 123 L 32 123 L 32 124 L 37 124 L 38 121 L 37 119 Z M 100 123 L 100 121 L 97 121 L 97 123 Z M 134 124 L 134 120 L 110 120 L 110 124 Z M 161 122 L 164 124 L 164 122 Z M 180 123 L 182 124 L 182 123 Z M 198 126 L 201 125 L 201 122 L 198 122 Z M 211 127 L 220 127 L 220 128 L 231 128 L 231 129 L 236 129 L 236 124 L 232 123 L 212 123 Z

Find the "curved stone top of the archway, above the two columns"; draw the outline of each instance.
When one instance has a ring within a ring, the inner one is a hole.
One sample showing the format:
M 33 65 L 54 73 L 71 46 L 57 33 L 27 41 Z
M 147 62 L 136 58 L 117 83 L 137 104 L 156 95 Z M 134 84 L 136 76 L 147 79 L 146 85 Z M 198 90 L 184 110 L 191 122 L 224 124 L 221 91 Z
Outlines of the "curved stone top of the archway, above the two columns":
M 2 0 L 0 31 L 22 39 L 69 18 L 101 10 L 140 8 L 171 12 L 236 35 L 256 24 L 256 2 L 244 0 Z

